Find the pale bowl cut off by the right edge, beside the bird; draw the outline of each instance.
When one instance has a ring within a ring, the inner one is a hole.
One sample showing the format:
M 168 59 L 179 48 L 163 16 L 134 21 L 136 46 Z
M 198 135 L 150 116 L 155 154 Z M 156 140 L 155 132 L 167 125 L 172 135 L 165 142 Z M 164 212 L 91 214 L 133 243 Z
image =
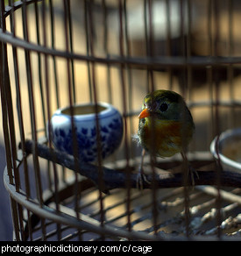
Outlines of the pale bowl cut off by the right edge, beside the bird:
M 217 137 L 211 142 L 210 152 L 217 159 L 216 140 Z M 224 170 L 241 173 L 241 128 L 220 134 L 218 155 Z

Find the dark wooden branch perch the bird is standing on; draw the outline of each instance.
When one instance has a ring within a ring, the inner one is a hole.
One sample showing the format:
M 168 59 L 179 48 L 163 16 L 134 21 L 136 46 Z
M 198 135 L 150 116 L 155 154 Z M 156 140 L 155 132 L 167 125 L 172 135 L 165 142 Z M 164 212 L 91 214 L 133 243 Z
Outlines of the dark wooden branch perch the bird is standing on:
M 21 148 L 21 146 L 19 146 Z M 102 184 L 101 190 L 104 192 L 113 188 L 137 188 L 138 174 L 115 170 L 107 167 L 97 167 L 96 165 L 74 160 L 74 157 L 67 153 L 62 153 L 46 145 L 37 143 L 34 146 L 32 140 L 25 141 L 25 153 L 37 153 L 39 157 L 51 160 L 63 167 L 78 171 L 86 176 L 97 186 Z M 197 171 L 199 177 L 194 175 L 195 185 L 216 185 L 217 173 L 215 171 Z M 102 182 L 100 182 L 100 178 Z M 152 188 L 152 174 L 146 174 L 147 181 L 144 181 L 143 188 Z M 128 179 L 128 182 L 127 182 Z M 176 188 L 183 186 L 183 175 L 178 174 L 156 174 L 155 188 Z M 192 181 L 189 179 L 188 184 L 191 186 Z M 220 186 L 241 188 L 241 174 L 223 170 L 220 174 Z

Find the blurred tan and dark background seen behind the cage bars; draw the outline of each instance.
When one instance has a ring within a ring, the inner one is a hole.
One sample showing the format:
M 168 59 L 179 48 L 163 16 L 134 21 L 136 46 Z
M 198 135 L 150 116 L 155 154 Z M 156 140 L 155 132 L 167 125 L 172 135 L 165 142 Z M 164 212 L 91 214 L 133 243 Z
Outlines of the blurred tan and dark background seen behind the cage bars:
M 209 64 L 209 60 L 214 60 L 209 57 L 241 55 L 240 1 L 49 0 L 44 7 L 31 1 L 4 3 L 7 32 L 14 33 L 19 42 L 24 39 L 32 46 L 39 46 L 40 51 L 52 49 L 56 53 L 53 56 L 47 51 L 45 54 L 32 51 L 28 59 L 23 47 L 16 49 L 7 44 L 17 143 L 21 138 L 16 108 L 18 85 L 26 138 L 32 134 L 30 97 L 40 138 L 46 132 L 46 87 L 51 115 L 69 104 L 69 83 L 74 103 L 93 102 L 95 87 L 97 101 L 112 103 L 126 117 L 122 146 L 107 163 L 113 157 L 125 159 L 126 145 L 131 159 L 140 155 L 141 149 L 132 137 L 138 131 L 143 98 L 152 89 L 172 89 L 186 99 L 196 127 L 189 147 L 191 153 L 209 153 L 210 142 L 218 132 L 240 126 L 240 62 L 220 65 L 221 59 L 216 59 Z M 14 16 L 8 5 L 16 7 Z M 76 58 L 67 60 L 65 53 Z M 17 54 L 17 61 L 13 54 Z M 170 60 L 170 56 L 177 58 Z M 91 57 L 99 59 L 93 64 L 88 61 Z M 185 65 L 181 62 L 183 57 L 187 63 L 190 57 L 196 59 Z M 4 132 L 0 128 L 3 174 Z M 0 239 L 10 240 L 10 201 L 3 179 L 0 188 Z

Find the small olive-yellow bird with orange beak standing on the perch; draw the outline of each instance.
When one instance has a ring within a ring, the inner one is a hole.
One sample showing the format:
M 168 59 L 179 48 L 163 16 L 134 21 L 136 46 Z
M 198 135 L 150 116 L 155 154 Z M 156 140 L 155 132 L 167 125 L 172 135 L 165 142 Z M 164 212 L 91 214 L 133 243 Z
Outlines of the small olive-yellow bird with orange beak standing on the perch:
M 138 186 L 142 188 L 143 180 L 147 181 L 143 170 L 145 152 L 161 158 L 181 153 L 182 159 L 188 163 L 186 153 L 195 133 L 195 123 L 184 98 L 166 89 L 145 96 L 138 119 L 138 142 L 143 147 Z M 191 175 L 194 184 L 192 172 Z

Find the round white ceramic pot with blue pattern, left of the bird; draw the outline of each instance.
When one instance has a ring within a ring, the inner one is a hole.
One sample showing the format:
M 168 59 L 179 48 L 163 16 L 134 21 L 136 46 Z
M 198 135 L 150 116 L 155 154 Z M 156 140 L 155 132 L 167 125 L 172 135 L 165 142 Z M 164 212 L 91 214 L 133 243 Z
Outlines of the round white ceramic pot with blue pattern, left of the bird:
M 74 105 L 74 130 L 81 160 L 98 158 L 96 108 L 94 104 Z M 123 137 L 123 120 L 119 111 L 109 103 L 98 103 L 98 125 L 102 158 L 110 156 L 120 146 Z M 73 154 L 73 130 L 70 107 L 56 110 L 51 118 L 51 139 L 58 150 Z

